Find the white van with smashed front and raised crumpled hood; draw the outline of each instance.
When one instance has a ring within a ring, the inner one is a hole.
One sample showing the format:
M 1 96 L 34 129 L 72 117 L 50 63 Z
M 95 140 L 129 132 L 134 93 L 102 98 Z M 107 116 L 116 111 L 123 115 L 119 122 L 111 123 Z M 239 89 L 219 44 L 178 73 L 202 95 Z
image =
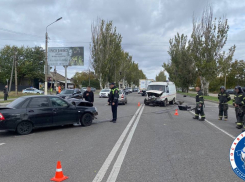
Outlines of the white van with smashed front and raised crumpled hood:
M 151 82 L 146 91 L 145 105 L 167 106 L 176 100 L 176 87 L 173 82 Z

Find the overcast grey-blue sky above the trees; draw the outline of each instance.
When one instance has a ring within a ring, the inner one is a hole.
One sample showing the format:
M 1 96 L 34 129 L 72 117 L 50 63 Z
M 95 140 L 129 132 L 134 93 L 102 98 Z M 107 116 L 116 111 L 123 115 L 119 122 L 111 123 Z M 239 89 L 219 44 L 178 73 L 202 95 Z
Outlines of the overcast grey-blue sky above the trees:
M 147 78 L 155 79 L 163 62 L 169 61 L 169 39 L 192 31 L 192 16 L 200 17 L 210 3 L 214 16 L 226 16 L 230 25 L 224 50 L 236 44 L 234 59 L 244 59 L 244 0 L 0 0 L 0 47 L 42 46 L 45 27 L 49 47 L 84 46 L 85 65 L 68 67 L 68 77 L 89 68 L 91 23 L 97 17 L 112 20 L 123 36 L 122 47 L 139 63 Z M 64 75 L 64 68 L 58 67 Z

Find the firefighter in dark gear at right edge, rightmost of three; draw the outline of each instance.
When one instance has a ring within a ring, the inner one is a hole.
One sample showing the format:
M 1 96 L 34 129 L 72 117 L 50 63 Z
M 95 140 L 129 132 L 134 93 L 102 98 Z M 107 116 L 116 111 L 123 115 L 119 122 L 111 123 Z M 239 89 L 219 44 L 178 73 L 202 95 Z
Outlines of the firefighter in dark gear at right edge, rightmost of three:
M 245 94 L 242 91 L 241 86 L 235 87 L 235 96 L 233 100 L 233 105 L 235 106 L 236 119 L 237 119 L 237 129 L 241 129 L 243 126 L 243 117 L 245 112 Z

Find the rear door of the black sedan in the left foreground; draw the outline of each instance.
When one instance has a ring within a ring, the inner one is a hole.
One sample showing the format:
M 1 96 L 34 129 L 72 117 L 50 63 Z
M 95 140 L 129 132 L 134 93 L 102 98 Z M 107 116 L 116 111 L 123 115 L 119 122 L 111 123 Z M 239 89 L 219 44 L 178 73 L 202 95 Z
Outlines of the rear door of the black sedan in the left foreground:
M 26 108 L 27 116 L 35 127 L 53 125 L 53 109 L 47 97 L 33 97 Z

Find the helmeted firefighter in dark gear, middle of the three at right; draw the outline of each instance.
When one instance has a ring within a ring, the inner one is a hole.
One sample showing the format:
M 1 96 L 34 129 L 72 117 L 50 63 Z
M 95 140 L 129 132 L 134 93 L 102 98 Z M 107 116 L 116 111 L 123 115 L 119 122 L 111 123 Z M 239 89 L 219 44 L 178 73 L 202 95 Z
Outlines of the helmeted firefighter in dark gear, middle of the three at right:
M 227 102 L 231 100 L 230 94 L 226 92 L 225 87 L 220 87 L 220 93 L 218 94 L 219 99 L 219 120 L 222 120 L 223 115 L 225 121 L 228 119 L 228 104 Z

